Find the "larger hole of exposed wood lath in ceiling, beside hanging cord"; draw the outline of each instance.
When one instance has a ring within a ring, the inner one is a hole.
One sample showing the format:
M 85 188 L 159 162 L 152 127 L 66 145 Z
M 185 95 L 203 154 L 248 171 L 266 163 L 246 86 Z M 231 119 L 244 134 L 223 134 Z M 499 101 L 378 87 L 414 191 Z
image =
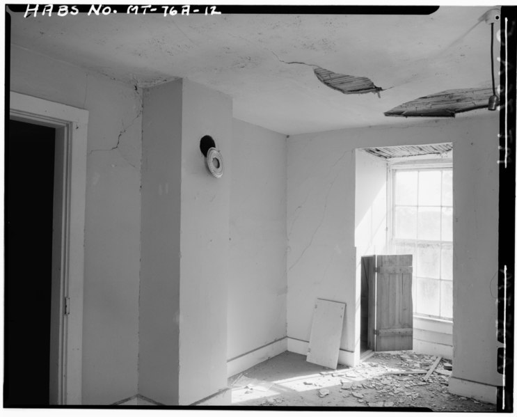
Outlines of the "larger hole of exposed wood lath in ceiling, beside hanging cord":
M 491 88 L 461 88 L 426 95 L 400 104 L 385 116 L 404 117 L 454 117 L 456 113 L 488 107 Z

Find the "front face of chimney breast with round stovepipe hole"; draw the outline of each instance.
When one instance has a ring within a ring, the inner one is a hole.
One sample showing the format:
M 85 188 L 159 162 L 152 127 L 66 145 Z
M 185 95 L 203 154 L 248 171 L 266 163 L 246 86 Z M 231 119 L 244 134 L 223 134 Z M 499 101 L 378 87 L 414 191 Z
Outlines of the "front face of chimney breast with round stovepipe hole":
M 199 143 L 209 134 L 223 155 L 214 178 Z M 180 404 L 226 388 L 232 99 L 182 81 Z

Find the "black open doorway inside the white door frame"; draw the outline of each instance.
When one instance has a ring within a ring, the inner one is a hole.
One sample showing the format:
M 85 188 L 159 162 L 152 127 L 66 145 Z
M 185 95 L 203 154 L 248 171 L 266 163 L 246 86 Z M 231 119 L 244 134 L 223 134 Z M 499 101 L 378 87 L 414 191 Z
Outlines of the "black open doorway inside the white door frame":
M 49 404 L 56 129 L 6 132 L 4 407 Z

